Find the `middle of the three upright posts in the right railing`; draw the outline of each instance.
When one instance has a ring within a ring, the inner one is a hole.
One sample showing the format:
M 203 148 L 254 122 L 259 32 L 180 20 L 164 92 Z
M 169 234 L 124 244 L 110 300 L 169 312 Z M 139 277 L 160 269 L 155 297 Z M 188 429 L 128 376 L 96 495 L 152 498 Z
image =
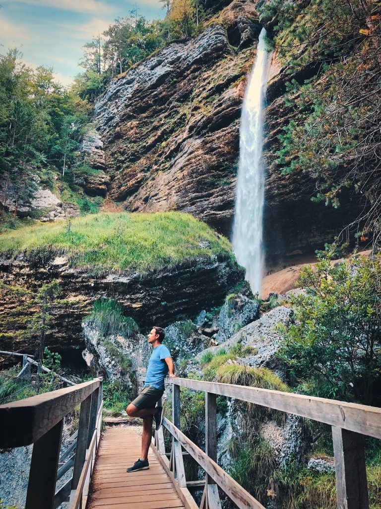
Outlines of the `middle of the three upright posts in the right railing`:
M 205 453 L 217 461 L 217 405 L 216 394 L 205 392 Z M 206 474 L 205 498 L 208 509 L 221 509 L 218 488 L 210 475 Z

